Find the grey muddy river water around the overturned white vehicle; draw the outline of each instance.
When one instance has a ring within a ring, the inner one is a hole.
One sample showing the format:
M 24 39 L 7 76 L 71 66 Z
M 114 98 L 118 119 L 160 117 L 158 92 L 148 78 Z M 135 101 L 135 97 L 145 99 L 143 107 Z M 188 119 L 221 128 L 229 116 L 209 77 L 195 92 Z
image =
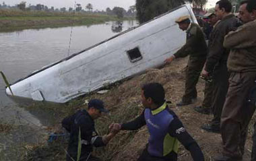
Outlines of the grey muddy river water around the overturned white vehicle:
M 0 71 L 5 73 L 9 83 L 13 83 L 45 65 L 137 26 L 135 21 L 123 22 L 122 28 L 115 28 L 114 24 L 75 26 L 72 36 L 71 27 L 0 33 Z M 5 96 L 5 83 L 0 78 L 0 124 L 15 127 L 8 135 L 0 131 L 0 160 L 3 160 L 3 151 L 13 143 L 40 141 L 38 136 L 44 135 L 42 128 L 53 124 L 55 117 L 49 110 L 20 108 Z M 7 155 L 4 160 L 15 160 L 13 157 Z

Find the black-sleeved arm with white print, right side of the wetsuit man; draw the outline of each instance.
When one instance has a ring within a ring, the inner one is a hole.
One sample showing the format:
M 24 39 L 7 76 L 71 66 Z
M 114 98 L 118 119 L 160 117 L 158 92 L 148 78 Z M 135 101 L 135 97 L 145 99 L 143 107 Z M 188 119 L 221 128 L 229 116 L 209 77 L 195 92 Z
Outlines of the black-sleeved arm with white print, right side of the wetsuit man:
M 193 160 L 203 161 L 203 153 L 199 148 L 197 142 L 189 135 L 181 121 L 174 117 L 173 121 L 169 125 L 168 133 L 172 137 L 176 137 L 187 150 L 189 150 Z

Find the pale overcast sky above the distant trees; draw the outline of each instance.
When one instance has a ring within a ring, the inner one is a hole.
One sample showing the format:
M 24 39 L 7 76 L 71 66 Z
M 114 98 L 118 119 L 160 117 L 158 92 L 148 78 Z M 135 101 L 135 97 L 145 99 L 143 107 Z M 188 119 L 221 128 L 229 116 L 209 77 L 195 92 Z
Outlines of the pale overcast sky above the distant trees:
M 83 9 L 85 9 L 86 5 L 88 3 L 91 3 L 94 10 L 106 10 L 106 7 L 110 7 L 110 9 L 113 9 L 113 7 L 123 7 L 124 9 L 128 10 L 129 6 L 135 5 L 135 0 L 5 0 L 5 4 L 7 5 L 15 5 L 19 4 L 21 1 L 26 1 L 27 5 L 36 5 L 38 3 L 42 5 L 47 5 L 48 7 L 73 7 L 75 2 L 82 5 Z M 208 0 L 208 3 L 206 5 L 207 8 L 211 8 L 215 6 L 215 3 L 218 0 Z M 0 0 L 1 3 L 3 3 L 3 0 Z

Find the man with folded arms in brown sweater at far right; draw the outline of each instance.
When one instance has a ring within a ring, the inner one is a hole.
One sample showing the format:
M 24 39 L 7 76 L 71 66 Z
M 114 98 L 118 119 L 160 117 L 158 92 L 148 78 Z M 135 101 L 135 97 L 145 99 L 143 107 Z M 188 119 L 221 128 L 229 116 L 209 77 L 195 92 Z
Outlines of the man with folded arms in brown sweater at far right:
M 247 129 L 255 112 L 256 95 L 251 94 L 256 88 L 256 1 L 242 1 L 238 18 L 243 26 L 224 40 L 224 47 L 230 49 L 230 78 L 221 117 L 223 155 L 216 161 L 243 160 Z M 255 154 L 252 156 L 255 160 Z

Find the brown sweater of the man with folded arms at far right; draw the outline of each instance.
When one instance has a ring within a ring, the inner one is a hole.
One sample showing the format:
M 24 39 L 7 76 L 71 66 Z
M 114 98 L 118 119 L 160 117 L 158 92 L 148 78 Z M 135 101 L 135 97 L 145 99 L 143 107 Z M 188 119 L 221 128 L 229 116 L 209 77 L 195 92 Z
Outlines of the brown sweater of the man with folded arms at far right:
M 256 71 L 256 20 L 230 32 L 224 47 L 231 49 L 228 70 L 235 72 Z

